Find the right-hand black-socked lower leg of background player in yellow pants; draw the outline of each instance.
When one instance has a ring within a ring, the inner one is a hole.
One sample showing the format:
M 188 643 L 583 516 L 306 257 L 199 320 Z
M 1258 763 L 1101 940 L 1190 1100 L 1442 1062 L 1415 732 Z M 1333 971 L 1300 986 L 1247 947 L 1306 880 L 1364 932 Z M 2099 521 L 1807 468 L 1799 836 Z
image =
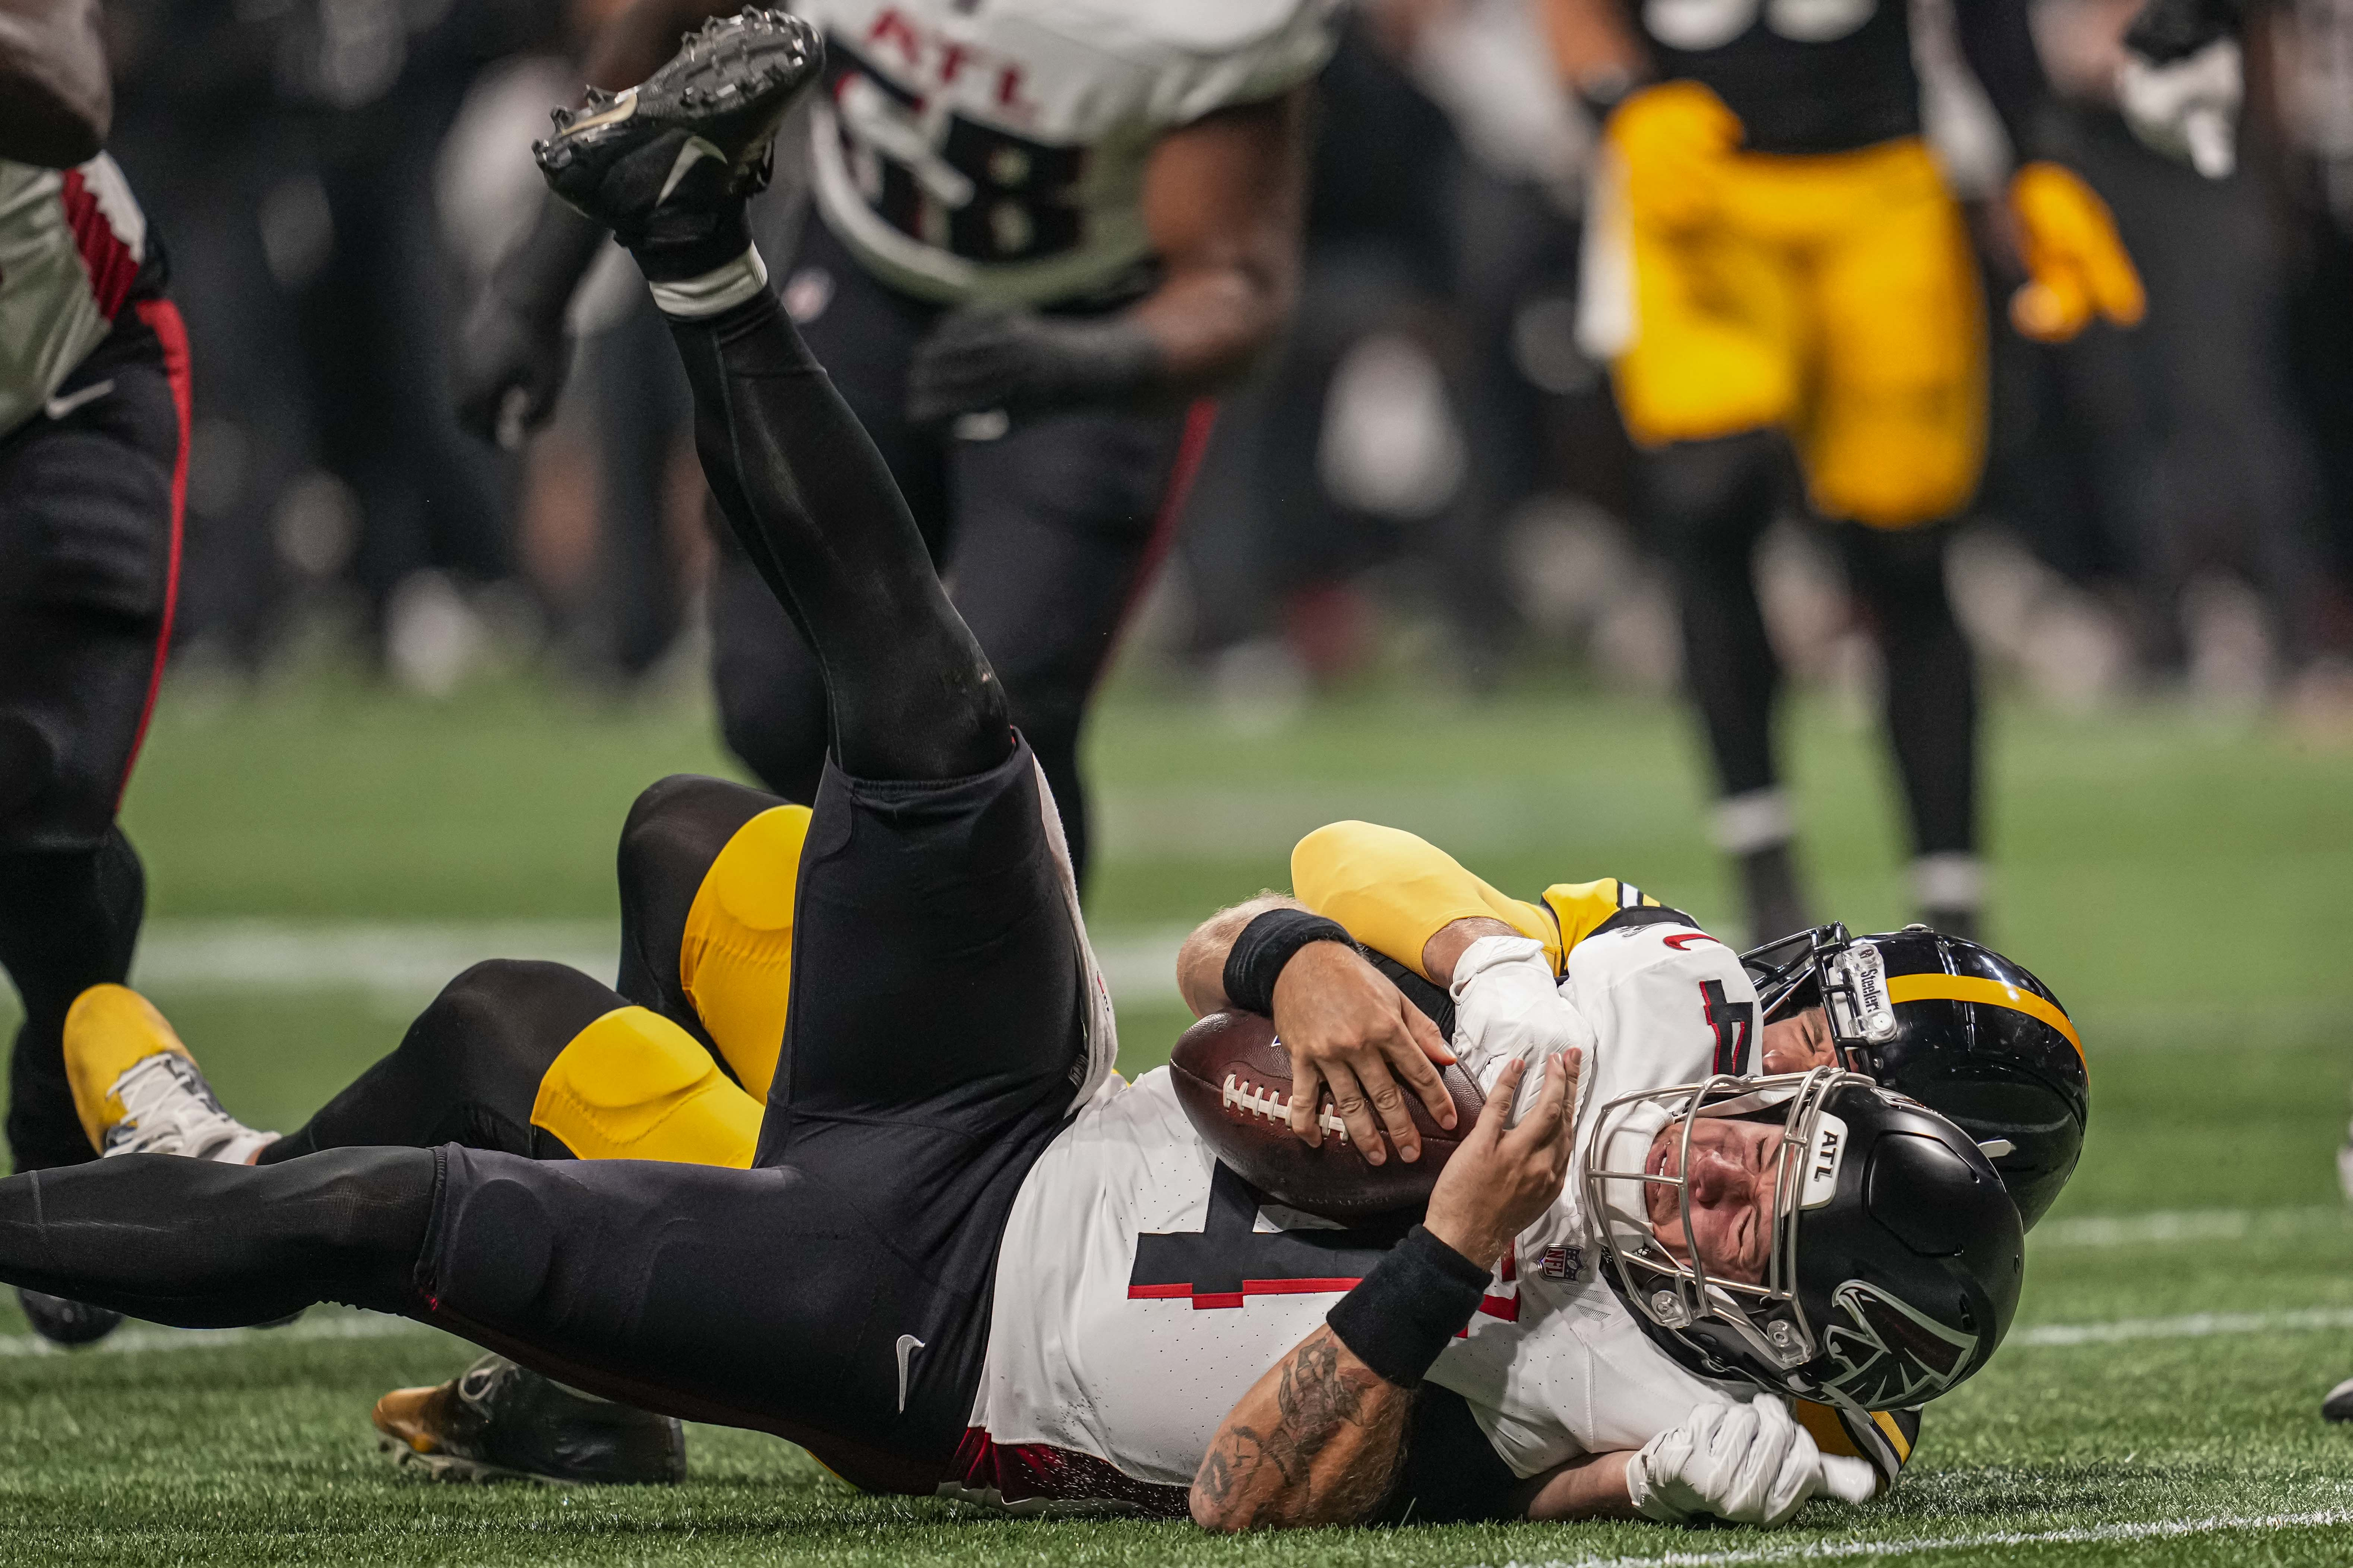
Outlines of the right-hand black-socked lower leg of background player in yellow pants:
M 1838 534 L 1847 578 L 1887 658 L 1887 736 L 1913 825 L 1913 896 L 1937 931 L 1974 938 L 1984 910 L 1977 858 L 1977 661 L 1944 581 L 1951 529 Z

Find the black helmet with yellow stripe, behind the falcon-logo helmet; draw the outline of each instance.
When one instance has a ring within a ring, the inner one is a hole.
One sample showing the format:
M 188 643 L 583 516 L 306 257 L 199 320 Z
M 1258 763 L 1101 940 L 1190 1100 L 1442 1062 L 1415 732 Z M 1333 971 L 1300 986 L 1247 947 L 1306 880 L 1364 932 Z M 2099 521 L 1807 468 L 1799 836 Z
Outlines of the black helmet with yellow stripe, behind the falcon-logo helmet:
M 1904 926 L 1828 924 L 1741 954 L 1762 1023 L 1821 1006 L 1847 1072 L 1944 1112 L 2033 1227 L 2075 1173 L 2092 1112 L 2082 1039 L 2059 997 L 1991 947 Z

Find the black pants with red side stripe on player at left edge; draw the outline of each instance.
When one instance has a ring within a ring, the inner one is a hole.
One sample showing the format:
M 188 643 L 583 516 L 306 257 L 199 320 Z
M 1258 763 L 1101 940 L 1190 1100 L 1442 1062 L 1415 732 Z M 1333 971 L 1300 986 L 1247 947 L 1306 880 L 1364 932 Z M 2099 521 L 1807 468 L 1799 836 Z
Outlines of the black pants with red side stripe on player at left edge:
M 0 966 L 16 1168 L 92 1159 L 66 1088 L 66 1009 L 122 980 L 146 907 L 115 830 L 162 675 L 179 571 L 186 339 L 132 301 L 52 407 L 0 437 Z

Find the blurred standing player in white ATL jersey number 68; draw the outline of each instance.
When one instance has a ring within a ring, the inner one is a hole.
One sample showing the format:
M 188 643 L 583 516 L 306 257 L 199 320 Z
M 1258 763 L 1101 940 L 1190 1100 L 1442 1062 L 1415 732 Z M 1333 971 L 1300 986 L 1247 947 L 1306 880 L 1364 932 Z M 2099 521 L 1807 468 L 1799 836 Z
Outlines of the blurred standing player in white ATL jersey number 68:
M 798 0 L 826 35 L 814 214 L 786 308 L 880 447 L 1061 806 L 1120 618 L 1172 543 L 1205 400 L 1289 315 L 1308 78 L 1337 0 Z M 732 0 L 635 0 L 595 89 L 647 78 Z M 562 381 L 602 230 L 551 202 L 466 334 L 464 418 L 515 437 Z M 729 748 L 807 802 L 816 665 L 718 529 L 713 682 Z

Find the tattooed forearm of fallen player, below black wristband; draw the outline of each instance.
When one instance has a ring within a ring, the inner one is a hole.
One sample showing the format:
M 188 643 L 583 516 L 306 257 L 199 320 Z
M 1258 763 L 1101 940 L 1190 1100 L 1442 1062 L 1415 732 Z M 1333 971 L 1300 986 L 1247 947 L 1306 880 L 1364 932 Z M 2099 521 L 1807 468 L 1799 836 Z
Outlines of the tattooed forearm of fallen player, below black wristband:
M 1414 1396 L 1318 1328 L 1242 1396 L 1193 1476 L 1212 1530 L 1369 1516 L 1405 1453 Z

